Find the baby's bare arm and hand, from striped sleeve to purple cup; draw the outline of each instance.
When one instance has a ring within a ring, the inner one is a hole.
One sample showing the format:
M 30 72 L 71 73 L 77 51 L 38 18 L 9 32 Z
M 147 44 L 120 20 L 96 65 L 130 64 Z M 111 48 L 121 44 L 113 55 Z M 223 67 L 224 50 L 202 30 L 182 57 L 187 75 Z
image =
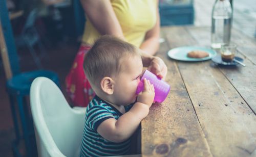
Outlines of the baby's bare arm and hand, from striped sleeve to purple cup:
M 145 118 L 153 103 L 155 96 L 154 86 L 144 80 L 144 90 L 138 95 L 137 101 L 129 112 L 123 114 L 118 120 L 106 119 L 97 128 L 97 132 L 106 140 L 123 142 L 129 139 L 141 120 Z

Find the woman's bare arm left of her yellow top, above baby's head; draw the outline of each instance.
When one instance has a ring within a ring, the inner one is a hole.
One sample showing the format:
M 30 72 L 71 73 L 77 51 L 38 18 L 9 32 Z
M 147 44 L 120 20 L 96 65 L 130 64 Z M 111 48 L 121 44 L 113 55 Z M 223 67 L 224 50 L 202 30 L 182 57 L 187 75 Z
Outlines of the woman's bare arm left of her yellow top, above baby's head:
M 121 26 L 109 0 L 80 0 L 87 17 L 102 35 L 124 39 Z

